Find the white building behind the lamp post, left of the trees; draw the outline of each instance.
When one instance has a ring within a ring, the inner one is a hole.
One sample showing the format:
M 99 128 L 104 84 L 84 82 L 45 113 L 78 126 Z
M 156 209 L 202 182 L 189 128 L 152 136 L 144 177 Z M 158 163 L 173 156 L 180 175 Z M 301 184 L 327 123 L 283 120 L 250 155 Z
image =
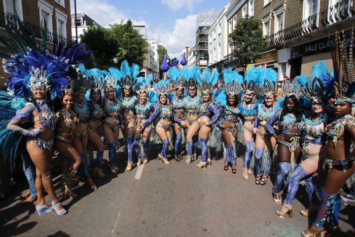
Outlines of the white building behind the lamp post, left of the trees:
M 86 15 L 85 13 L 76 13 L 76 21 L 75 21 L 75 14 L 71 14 L 71 39 L 76 40 L 76 29 L 75 29 L 75 22 L 76 22 L 76 29 L 77 29 L 77 40 L 78 42 L 81 41 L 81 34 L 83 34 L 84 30 L 87 30 L 89 26 L 98 26 L 101 27 L 99 24 L 96 23 L 90 16 Z

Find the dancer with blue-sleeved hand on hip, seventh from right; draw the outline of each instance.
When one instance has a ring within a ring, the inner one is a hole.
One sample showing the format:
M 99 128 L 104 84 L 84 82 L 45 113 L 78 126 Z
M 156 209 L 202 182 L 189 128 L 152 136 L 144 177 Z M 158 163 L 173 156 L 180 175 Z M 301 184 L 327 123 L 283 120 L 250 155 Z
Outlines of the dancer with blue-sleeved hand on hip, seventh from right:
M 198 110 L 199 113 L 199 123 L 200 129 L 198 133 L 198 141 L 201 146 L 201 160 L 196 164 L 197 168 L 206 168 L 207 163 L 211 165 L 211 158 L 209 157 L 207 140 L 209 139 L 209 134 L 212 131 L 212 125 L 217 121 L 220 116 L 220 103 L 213 101 L 213 89 L 214 85 L 217 83 L 219 74 L 217 70 L 213 70 L 210 75 L 210 68 L 206 67 L 202 75 L 202 83 L 197 84 L 197 88 L 202 95 L 202 103 Z M 217 129 L 217 128 L 214 128 Z M 213 139 L 218 140 L 218 139 Z M 220 140 L 220 139 L 219 139 Z M 214 147 L 217 144 L 213 144 Z M 209 146 L 211 147 L 211 146 Z M 206 162 L 207 159 L 207 162 Z

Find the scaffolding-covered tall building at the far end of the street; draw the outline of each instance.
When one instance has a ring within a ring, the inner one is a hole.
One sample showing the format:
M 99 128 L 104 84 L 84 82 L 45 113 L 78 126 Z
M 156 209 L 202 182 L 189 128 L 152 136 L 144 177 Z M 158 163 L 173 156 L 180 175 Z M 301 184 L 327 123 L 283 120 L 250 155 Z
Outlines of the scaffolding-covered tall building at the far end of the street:
M 208 55 L 208 30 L 213 22 L 217 19 L 220 11 L 203 11 L 199 12 L 196 18 L 196 49 L 198 51 L 198 62 L 205 60 L 205 55 Z M 204 67 L 204 66 L 202 66 Z

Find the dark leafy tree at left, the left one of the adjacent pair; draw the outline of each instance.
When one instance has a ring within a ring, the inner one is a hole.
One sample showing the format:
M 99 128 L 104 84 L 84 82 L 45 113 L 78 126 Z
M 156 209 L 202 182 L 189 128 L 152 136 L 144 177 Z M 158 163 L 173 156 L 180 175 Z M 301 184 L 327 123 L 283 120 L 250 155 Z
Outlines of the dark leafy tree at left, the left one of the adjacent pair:
M 90 26 L 81 36 L 81 42 L 94 50 L 92 61 L 86 63 L 87 67 L 107 69 L 114 65 L 114 57 L 117 54 L 118 43 L 111 31 L 97 26 Z

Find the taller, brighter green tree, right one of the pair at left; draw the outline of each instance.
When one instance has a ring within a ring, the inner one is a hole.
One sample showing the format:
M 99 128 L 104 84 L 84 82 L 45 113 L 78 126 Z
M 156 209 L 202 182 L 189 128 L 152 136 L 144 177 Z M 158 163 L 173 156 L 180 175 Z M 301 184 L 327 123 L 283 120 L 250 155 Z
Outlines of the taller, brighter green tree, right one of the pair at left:
M 127 60 L 130 65 L 135 63 L 142 66 L 145 59 L 144 54 L 148 52 L 148 43 L 133 28 L 132 21 L 128 20 L 125 24 L 121 21 L 120 24 L 115 23 L 110 26 L 118 42 L 116 51 L 118 63 L 120 64 L 123 60 Z

